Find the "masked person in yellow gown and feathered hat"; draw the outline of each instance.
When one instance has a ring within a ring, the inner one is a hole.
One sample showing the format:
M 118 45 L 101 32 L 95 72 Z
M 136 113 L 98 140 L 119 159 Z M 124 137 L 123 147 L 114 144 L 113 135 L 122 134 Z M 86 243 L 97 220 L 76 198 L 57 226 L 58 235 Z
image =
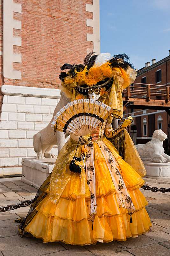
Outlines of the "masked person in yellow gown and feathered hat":
M 71 101 L 99 100 L 113 111 L 92 134 L 70 134 L 19 226 L 21 236 L 88 245 L 124 241 L 152 226 L 139 190 L 145 168 L 125 129 L 132 117 L 116 130 L 111 125 L 113 118 L 123 118 L 122 91 L 134 82 L 136 71 L 126 54 L 93 54 L 85 57 L 84 65 L 61 67 L 69 71 L 61 72 L 60 89 Z M 74 156 L 80 159 L 80 173 L 70 170 Z

